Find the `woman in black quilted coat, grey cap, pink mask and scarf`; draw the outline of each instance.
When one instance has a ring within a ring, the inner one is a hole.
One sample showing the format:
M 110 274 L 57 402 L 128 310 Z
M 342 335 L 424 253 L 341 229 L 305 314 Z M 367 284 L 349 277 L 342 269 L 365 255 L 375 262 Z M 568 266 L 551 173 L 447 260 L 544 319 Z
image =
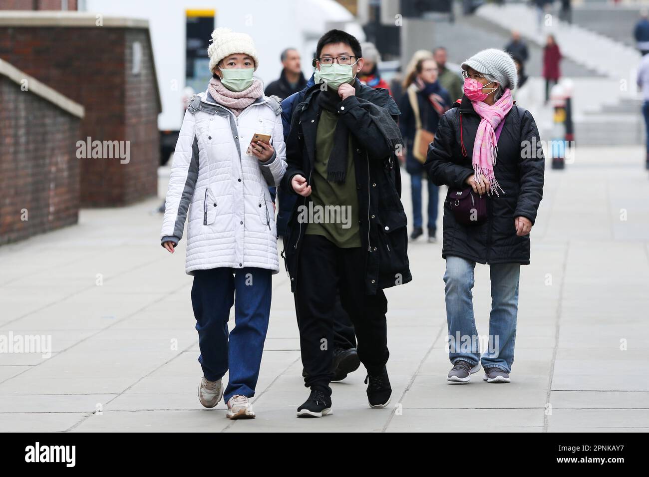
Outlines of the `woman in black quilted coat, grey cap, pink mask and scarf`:
M 465 95 L 441 118 L 424 164 L 435 184 L 449 186 L 442 249 L 454 365 L 448 380 L 468 382 L 482 363 L 487 382 L 509 382 L 520 265 L 530 263 L 529 234 L 543 195 L 545 159 L 532 115 L 511 101 L 517 80 L 511 56 L 487 49 L 462 69 Z M 455 197 L 463 190 L 459 197 L 474 201 L 469 220 L 456 208 Z M 481 201 L 486 205 L 482 217 L 477 213 Z M 490 266 L 493 299 L 482 358 L 471 293 L 476 263 Z

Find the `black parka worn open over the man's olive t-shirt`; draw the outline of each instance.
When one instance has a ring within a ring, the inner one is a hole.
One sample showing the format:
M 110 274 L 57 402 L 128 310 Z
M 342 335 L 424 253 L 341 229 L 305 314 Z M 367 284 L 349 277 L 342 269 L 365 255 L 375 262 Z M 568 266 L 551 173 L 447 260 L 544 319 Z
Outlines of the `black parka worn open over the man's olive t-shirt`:
M 367 251 L 365 262 L 365 291 L 374 295 L 379 289 L 406 284 L 412 279 L 408 263 L 407 219 L 401 203 L 401 178 L 398 160 L 380 129 L 358 98 L 386 108 L 396 120 L 397 104 L 387 90 L 374 90 L 360 82 L 354 85 L 356 95 L 341 101 L 345 121 L 352 133 L 356 191 L 358 193 L 361 247 Z M 291 118 L 291 130 L 286 139 L 287 169 L 281 187 L 295 194 L 291 179 L 299 174 L 311 184 L 315 161 L 315 136 L 319 111 L 315 85 L 296 100 Z M 311 184 L 312 185 L 312 184 Z M 313 187 L 313 185 L 312 185 Z M 297 263 L 307 224 L 299 223 L 298 208 L 309 206 L 311 197 L 298 197 L 284 236 L 284 262 L 295 291 Z

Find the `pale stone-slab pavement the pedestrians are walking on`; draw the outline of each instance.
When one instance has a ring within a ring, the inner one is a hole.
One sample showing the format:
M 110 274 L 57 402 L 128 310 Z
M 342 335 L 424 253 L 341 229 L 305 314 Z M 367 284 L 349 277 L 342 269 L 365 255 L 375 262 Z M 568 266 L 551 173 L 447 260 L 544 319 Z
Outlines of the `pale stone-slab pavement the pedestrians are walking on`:
M 295 417 L 308 390 L 283 268 L 274 277 L 258 417 L 230 422 L 223 403 L 204 410 L 196 397 L 185 241 L 174 256 L 160 247 L 161 217 L 150 213 L 159 201 L 83 210 L 79 225 L 0 247 L 0 336 L 48 335 L 52 343 L 49 358 L 0 354 L 0 430 L 646 431 L 643 160 L 640 147 L 578 149 L 565 171 L 546 169 L 532 265 L 521 273 L 511 384 L 486 384 L 482 373 L 469 385 L 447 384 L 441 243 L 415 243 L 413 282 L 386 293 L 391 406 L 367 406 L 359 370 L 332 385 L 334 415 L 323 419 Z M 488 280 L 478 265 L 480 334 L 488 334 Z

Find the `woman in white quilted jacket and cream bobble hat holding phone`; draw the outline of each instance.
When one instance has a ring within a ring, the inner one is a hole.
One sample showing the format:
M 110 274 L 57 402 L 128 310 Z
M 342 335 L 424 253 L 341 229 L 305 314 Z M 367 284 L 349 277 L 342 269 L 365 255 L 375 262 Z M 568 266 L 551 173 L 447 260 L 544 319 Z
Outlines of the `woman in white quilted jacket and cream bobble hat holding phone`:
M 214 408 L 225 389 L 227 417 L 254 417 L 249 398 L 259 376 L 279 271 L 269 186 L 286 171 L 281 108 L 254 79 L 252 38 L 218 28 L 208 47 L 214 77 L 185 114 L 165 203 L 161 241 L 173 253 L 187 220 L 186 273 L 199 332 L 199 400 Z M 268 134 L 269 143 L 252 142 Z M 235 327 L 228 339 L 234 304 Z

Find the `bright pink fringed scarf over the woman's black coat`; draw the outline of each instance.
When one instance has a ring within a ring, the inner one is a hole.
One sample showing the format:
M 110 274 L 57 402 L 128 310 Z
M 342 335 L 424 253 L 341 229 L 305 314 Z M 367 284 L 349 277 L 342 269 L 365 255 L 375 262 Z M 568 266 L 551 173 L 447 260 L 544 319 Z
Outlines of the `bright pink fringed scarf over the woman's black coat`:
M 473 110 L 478 113 L 482 119 L 476 132 L 476 140 L 473 143 L 473 172 L 476 182 L 479 182 L 484 175 L 489 180 L 489 186 L 492 191 L 498 194 L 498 189 L 504 192 L 493 173 L 493 166 L 496 164 L 498 156 L 498 138 L 496 138 L 495 129 L 500 121 L 513 106 L 511 91 L 505 90 L 503 95 L 492 106 L 484 101 L 472 101 Z

